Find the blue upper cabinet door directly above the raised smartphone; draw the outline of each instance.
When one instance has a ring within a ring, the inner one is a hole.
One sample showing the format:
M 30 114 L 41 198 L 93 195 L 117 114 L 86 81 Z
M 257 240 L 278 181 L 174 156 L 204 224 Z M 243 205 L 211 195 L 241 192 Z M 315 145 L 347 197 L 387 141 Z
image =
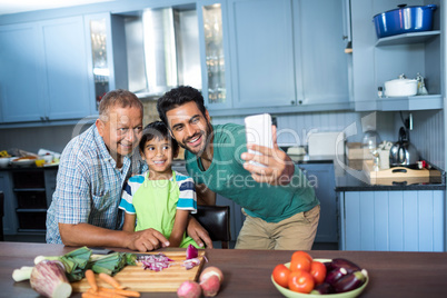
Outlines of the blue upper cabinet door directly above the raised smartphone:
M 294 105 L 291 1 L 230 0 L 228 4 L 232 106 Z

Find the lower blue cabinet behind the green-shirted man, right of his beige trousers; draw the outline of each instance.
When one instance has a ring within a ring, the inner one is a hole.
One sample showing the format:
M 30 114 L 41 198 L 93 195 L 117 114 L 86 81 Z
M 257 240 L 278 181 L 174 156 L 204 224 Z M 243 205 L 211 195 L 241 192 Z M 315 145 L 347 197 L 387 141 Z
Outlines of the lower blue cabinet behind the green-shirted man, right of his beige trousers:
M 320 220 L 315 242 L 338 242 L 338 208 L 334 163 L 300 163 L 320 201 Z

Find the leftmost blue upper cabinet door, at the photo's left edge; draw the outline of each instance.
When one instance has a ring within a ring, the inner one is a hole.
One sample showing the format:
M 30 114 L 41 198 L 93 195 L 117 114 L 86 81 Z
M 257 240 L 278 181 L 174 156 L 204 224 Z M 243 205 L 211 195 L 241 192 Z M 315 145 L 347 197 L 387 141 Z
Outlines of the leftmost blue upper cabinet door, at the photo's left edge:
M 36 23 L 0 27 L 0 101 L 4 122 L 43 115 L 43 52 Z

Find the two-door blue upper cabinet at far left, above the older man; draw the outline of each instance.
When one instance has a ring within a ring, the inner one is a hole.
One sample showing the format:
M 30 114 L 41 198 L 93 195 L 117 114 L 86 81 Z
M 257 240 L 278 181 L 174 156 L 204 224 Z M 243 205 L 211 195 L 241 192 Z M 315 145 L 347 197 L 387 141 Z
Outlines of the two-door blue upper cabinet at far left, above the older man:
M 82 17 L 1 26 L 0 43 L 3 122 L 90 115 Z

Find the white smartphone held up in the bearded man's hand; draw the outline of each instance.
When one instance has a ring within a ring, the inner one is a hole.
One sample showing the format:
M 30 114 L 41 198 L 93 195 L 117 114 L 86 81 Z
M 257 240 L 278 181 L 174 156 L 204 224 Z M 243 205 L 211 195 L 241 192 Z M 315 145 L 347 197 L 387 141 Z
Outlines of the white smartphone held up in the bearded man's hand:
M 274 148 L 274 137 L 271 135 L 271 116 L 269 113 L 254 115 L 245 118 L 247 145 L 256 143 L 264 147 Z M 261 155 L 255 150 L 249 153 Z M 256 161 L 249 161 L 259 167 L 266 167 Z

